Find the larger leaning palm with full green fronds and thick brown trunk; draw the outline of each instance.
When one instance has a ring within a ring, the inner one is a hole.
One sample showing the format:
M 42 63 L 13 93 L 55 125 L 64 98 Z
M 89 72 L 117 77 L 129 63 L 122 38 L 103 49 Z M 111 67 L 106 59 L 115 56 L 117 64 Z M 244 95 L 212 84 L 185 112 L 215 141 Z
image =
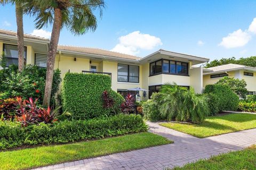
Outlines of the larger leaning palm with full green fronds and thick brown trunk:
M 21 0 L 20 0 L 21 1 Z M 60 37 L 60 30 L 66 26 L 74 35 L 83 35 L 87 31 L 95 31 L 97 19 L 93 11 L 99 10 L 102 16 L 103 0 L 34 0 L 22 1 L 28 5 L 25 12 L 36 16 L 36 28 L 41 29 L 53 23 L 50 47 L 47 57 L 47 72 L 43 105 L 50 105 L 51 88 L 55 55 Z

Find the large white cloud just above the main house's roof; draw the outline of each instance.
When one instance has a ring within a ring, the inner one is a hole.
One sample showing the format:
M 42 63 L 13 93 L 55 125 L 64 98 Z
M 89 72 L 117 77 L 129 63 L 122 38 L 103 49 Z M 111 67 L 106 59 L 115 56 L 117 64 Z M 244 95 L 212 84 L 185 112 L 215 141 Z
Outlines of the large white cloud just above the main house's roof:
M 150 50 L 163 44 L 160 38 L 141 33 L 140 31 L 131 32 L 118 39 L 119 43 L 111 51 L 130 55 L 140 53 L 140 49 Z

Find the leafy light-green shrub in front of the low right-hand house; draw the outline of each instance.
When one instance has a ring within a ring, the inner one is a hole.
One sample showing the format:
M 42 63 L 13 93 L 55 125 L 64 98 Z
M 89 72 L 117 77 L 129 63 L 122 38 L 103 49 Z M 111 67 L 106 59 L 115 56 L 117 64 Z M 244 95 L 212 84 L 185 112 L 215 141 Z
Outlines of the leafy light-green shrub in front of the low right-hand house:
M 224 78 L 220 79 L 215 84 L 227 85 L 240 98 L 244 98 L 244 99 L 246 98 L 248 91 L 246 89 L 247 84 L 244 79 L 239 80 L 239 79 L 235 79 L 235 78 L 224 77 Z

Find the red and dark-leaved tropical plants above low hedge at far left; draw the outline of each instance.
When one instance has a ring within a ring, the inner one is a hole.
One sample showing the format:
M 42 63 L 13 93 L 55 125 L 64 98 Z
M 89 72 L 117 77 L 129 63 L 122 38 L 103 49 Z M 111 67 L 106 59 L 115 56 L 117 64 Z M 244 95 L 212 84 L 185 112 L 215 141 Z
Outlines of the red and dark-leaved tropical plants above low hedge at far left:
M 16 120 L 21 122 L 23 126 L 36 124 L 40 122 L 52 123 L 57 121 L 51 113 L 50 107 L 47 109 L 39 107 L 30 97 L 29 100 L 22 100 L 21 97 L 16 99 L 5 99 L 0 105 L 0 113 L 3 120 Z

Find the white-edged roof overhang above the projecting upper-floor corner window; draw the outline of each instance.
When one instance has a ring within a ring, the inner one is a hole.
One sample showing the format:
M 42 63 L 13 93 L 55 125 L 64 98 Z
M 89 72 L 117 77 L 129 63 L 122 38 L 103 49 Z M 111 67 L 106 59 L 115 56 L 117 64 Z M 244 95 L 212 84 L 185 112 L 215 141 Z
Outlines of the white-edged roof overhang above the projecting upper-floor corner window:
M 152 53 L 146 57 L 141 58 L 139 61 L 141 64 L 154 62 L 160 59 L 175 60 L 180 62 L 191 62 L 192 65 L 201 64 L 209 61 L 209 58 L 197 57 L 193 55 L 181 54 L 169 52 L 167 50 L 160 49 L 155 53 Z

